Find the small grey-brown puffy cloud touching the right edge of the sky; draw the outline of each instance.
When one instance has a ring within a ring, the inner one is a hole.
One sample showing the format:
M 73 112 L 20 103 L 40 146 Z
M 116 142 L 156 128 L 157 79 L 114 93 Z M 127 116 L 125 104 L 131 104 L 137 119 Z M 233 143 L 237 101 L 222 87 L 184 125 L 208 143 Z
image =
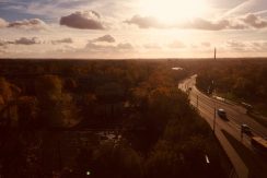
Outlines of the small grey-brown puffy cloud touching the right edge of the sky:
M 247 14 L 244 19 L 242 19 L 244 23 L 255 28 L 265 28 L 267 27 L 267 20 L 262 19 L 255 14 Z

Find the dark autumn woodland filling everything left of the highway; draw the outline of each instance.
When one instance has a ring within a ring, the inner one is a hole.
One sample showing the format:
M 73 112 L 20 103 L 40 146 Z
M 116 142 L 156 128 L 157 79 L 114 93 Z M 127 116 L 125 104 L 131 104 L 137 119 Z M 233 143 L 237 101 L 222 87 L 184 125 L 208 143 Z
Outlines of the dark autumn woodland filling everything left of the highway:
M 0 61 L 0 177 L 227 177 L 210 128 L 177 88 L 189 66 Z

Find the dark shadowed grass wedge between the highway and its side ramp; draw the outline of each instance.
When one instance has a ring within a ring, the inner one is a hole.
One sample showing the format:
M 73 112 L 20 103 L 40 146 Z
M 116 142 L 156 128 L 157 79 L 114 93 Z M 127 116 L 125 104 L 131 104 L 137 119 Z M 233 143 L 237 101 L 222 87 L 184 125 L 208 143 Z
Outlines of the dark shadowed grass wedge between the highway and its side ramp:
M 266 178 L 267 177 L 267 161 L 262 155 L 252 152 L 245 147 L 241 142 L 234 139 L 227 131 L 222 130 L 225 138 L 237 152 L 248 168 L 248 178 Z

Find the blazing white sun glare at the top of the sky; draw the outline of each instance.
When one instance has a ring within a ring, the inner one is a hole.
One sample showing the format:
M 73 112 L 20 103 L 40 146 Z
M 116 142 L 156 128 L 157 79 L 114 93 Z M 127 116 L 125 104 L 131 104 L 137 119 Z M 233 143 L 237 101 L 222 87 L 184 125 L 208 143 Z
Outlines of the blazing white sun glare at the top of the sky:
M 140 0 L 140 13 L 163 23 L 178 23 L 204 15 L 206 0 Z

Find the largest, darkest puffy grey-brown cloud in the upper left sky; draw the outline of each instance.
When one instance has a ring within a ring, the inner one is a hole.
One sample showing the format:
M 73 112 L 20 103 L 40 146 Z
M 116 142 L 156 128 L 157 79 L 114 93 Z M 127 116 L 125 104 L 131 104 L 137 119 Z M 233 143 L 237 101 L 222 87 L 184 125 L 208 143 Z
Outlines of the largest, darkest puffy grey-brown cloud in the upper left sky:
M 60 19 L 60 25 L 80 29 L 104 29 L 101 15 L 95 11 L 78 11 Z

